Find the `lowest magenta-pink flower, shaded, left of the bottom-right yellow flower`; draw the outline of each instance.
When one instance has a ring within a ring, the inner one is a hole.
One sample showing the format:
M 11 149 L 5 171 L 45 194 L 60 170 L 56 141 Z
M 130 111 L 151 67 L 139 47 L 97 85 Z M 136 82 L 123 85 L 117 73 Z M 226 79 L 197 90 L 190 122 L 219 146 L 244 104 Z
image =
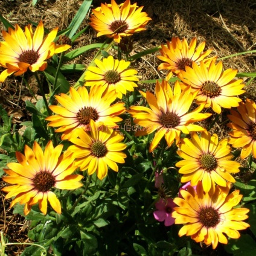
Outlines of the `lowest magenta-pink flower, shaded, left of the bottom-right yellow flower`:
M 167 201 L 167 202 L 166 202 Z M 159 199 L 158 202 L 155 204 L 156 206 L 156 211 L 154 211 L 154 217 L 156 220 L 159 222 L 164 221 L 165 226 L 171 226 L 174 223 L 174 218 L 171 217 L 171 213 L 173 212 L 173 207 L 175 207 L 175 203 L 173 202 L 173 199 L 167 198 L 166 200 L 164 199 Z

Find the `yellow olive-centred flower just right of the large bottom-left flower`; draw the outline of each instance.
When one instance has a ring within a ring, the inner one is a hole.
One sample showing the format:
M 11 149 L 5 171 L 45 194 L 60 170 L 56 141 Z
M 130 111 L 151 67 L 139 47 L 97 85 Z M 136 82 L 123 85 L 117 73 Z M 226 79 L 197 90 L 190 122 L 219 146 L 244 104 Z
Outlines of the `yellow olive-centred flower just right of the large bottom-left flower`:
M 123 164 L 126 154 L 121 150 L 126 149 L 126 144 L 120 143 L 124 137 L 106 126 L 98 128 L 91 120 L 91 132 L 78 129 L 79 138 L 71 138 L 74 144 L 68 148 L 74 153 L 75 165 L 80 170 L 88 170 L 89 175 L 96 171 L 99 179 L 107 175 L 107 167 L 118 171 L 117 163 Z

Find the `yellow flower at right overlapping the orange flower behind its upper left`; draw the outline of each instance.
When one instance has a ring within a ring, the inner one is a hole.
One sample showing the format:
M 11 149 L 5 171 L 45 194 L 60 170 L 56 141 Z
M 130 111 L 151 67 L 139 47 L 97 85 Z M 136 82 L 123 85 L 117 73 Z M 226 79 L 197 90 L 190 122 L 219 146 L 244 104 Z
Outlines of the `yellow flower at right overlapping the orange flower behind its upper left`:
M 185 69 L 180 72 L 179 78 L 197 92 L 197 104 L 206 103 L 205 107 L 211 107 L 220 114 L 221 107 L 230 109 L 242 101 L 237 95 L 245 92 L 242 90 L 245 85 L 242 79 L 233 79 L 237 70 L 229 68 L 222 72 L 222 62 L 215 65 L 214 60 L 209 68 L 203 62 L 200 62 L 200 66 L 193 62 L 192 68 L 186 66 Z

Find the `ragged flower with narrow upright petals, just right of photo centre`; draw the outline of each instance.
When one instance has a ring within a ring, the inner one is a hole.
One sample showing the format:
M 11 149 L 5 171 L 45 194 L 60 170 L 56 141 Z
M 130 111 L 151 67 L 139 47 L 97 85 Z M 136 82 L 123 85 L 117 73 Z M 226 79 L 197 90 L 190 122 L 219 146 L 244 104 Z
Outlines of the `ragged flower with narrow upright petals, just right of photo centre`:
M 203 109 L 203 104 L 188 113 L 195 97 L 189 87 L 181 91 L 181 86 L 176 81 L 174 90 L 172 90 L 170 85 L 162 80 L 162 83 L 156 82 L 155 91 L 156 97 L 150 92 L 139 91 L 146 98 L 150 108 L 132 106 L 129 110 L 135 118 L 135 123 L 144 127 L 138 130 L 135 136 L 147 135 L 156 130 L 155 137 L 150 144 L 150 152 L 158 146 L 163 136 L 170 147 L 174 139 L 176 139 L 176 144 L 179 144 L 181 132 L 188 134 L 192 131 L 205 130 L 193 123 L 205 120 L 211 114 L 199 113 Z

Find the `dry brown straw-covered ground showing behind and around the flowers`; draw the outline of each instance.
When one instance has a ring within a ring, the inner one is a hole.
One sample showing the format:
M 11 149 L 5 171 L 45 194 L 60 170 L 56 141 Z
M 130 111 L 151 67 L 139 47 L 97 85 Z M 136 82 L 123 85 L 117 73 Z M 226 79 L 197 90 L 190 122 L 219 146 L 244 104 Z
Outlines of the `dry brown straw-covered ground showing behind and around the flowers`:
M 28 24 L 28 20 L 39 22 L 43 20 L 46 28 L 59 27 L 63 30 L 68 27 L 76 11 L 82 4 L 77 0 L 51 0 L 38 1 L 33 7 L 32 1 L 0 0 L 0 13 L 12 25 L 18 23 L 22 28 Z M 101 1 L 93 1 L 93 7 L 98 7 Z M 105 1 L 102 1 L 105 2 Z M 110 2 L 110 1 L 106 1 Z M 121 1 L 117 1 L 121 2 Z M 206 48 L 212 48 L 212 56 L 228 56 L 230 54 L 256 49 L 256 3 L 254 0 L 138 0 L 138 5 L 144 5 L 152 18 L 147 25 L 147 31 L 136 34 L 134 37 L 133 53 L 150 49 L 171 40 L 171 37 L 186 37 L 190 41 L 194 36 L 198 42 L 206 41 Z M 81 28 L 88 25 L 86 18 Z M 0 29 L 4 26 L 0 24 Z M 2 40 L 0 36 L 0 40 Z M 75 48 L 94 42 L 103 42 L 104 38 L 96 38 L 95 31 L 89 28 L 80 39 Z M 161 63 L 158 53 L 144 56 L 132 65 L 138 70 L 142 80 L 163 78 L 165 71 L 158 71 Z M 83 54 L 75 60 L 77 63 L 88 65 L 94 56 L 94 51 Z M 240 55 L 223 60 L 224 68 L 238 69 L 238 72 L 255 72 L 255 54 Z M 75 83 L 79 75 L 69 77 L 71 85 Z M 245 78 L 245 83 L 249 78 Z M 29 81 L 34 94 L 37 94 L 36 82 L 33 78 Z M 16 122 L 27 121 L 30 116 L 24 108 L 24 99 L 32 98 L 28 88 L 21 85 L 20 77 L 7 78 L 0 85 L 0 104 L 11 114 L 16 114 Z M 143 85 L 153 88 L 154 85 Z M 246 85 L 246 94 L 242 98 L 256 100 L 256 82 Z M 21 87 L 21 88 L 20 88 Z M 21 90 L 21 91 L 20 91 Z M 21 94 L 19 96 L 19 94 Z M 222 124 L 225 122 L 223 115 L 218 124 L 214 125 L 213 132 L 220 137 L 227 136 L 227 130 Z M 3 186 L 0 181 L 0 188 Z M 3 197 L 2 197 L 3 198 Z M 2 199 L 4 200 L 4 199 Z M 0 230 L 4 231 L 10 242 L 28 242 L 26 224 L 23 217 L 13 215 L 8 209 L 8 200 L 0 201 Z M 4 205 L 5 210 L 4 211 Z M 8 255 L 19 255 L 23 251 L 22 246 L 8 248 Z

